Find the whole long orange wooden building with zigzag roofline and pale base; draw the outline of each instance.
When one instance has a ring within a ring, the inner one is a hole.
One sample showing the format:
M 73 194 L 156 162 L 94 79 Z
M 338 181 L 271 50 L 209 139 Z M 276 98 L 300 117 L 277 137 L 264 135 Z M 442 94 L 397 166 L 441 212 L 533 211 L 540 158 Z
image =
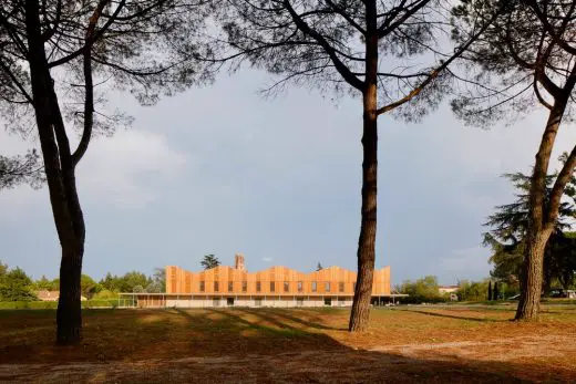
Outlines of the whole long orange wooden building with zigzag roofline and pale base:
M 200 272 L 166 267 L 166 293 L 121 293 L 138 308 L 346 307 L 352 304 L 357 273 L 329 267 L 309 273 L 287 267 L 248 272 L 241 253 L 235 266 Z M 402 295 L 402 294 L 399 294 Z M 374 270 L 372 300 L 391 299 L 390 267 Z

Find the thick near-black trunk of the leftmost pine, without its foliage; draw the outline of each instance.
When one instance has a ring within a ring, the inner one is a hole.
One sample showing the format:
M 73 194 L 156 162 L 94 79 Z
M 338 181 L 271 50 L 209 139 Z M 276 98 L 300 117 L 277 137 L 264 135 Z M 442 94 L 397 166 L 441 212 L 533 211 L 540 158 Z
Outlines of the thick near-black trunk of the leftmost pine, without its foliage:
M 28 61 L 37 127 L 44 160 L 50 204 L 62 247 L 56 341 L 80 341 L 80 276 L 84 252 L 84 220 L 78 198 L 74 164 L 44 51 L 39 2 L 27 0 Z

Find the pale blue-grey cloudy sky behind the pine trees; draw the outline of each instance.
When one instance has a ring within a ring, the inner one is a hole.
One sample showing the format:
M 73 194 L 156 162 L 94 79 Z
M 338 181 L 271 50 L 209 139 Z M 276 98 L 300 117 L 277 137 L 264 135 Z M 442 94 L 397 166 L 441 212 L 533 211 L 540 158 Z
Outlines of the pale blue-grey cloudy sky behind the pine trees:
M 265 98 L 258 90 L 269 81 L 243 70 L 153 107 L 111 96 L 135 120 L 96 137 L 78 168 L 84 273 L 198 270 L 206 253 L 233 264 L 236 252 L 251 271 L 310 271 L 318 262 L 356 270 L 361 102 L 298 87 Z M 488 276 L 482 224 L 514 198 L 501 175 L 529 170 L 545 118 L 536 110 L 512 126 L 481 129 L 448 105 L 418 124 L 380 117 L 377 267 L 391 267 L 392 283 Z M 564 125 L 554 158 L 575 142 Z M 1 154 L 34 145 L 0 133 Z M 48 189 L 1 190 L 0 212 L 0 260 L 34 278 L 56 277 Z

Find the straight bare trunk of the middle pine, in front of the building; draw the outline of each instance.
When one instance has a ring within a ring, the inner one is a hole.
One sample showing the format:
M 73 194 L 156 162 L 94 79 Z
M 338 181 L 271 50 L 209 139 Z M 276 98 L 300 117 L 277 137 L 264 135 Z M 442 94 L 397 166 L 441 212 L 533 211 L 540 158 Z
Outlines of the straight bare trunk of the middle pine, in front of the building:
M 370 320 L 370 299 L 376 259 L 378 195 L 378 33 L 376 1 L 368 0 L 366 39 L 366 90 L 362 93 L 362 219 L 358 239 L 358 276 L 350 313 L 350 332 L 366 331 Z

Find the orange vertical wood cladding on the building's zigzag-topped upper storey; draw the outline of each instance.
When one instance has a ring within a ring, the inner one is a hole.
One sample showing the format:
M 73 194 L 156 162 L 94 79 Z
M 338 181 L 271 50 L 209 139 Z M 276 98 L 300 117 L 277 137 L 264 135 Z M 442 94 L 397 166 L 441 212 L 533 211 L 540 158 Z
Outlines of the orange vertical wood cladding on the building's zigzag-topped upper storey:
M 248 273 L 219 266 L 202 272 L 166 267 L 166 293 L 315 295 L 354 294 L 356 272 L 340 267 L 310 273 L 286 267 L 271 267 Z M 374 270 L 372 294 L 390 294 L 390 267 Z

